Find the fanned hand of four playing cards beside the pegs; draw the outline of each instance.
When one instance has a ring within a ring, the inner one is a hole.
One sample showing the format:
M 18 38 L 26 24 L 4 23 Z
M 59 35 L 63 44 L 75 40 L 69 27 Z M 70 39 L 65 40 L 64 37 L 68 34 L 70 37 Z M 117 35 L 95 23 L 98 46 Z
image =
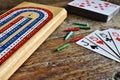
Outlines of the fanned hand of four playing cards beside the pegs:
M 120 30 L 96 30 L 76 43 L 98 54 L 120 62 Z

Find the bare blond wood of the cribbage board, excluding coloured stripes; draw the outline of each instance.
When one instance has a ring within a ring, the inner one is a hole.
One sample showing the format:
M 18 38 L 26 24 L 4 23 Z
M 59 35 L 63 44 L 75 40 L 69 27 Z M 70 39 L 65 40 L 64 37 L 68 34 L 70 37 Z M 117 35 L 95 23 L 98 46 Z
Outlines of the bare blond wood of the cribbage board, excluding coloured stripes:
M 15 8 L 22 8 L 22 7 L 45 8 L 52 12 L 53 18 L 47 24 L 45 24 L 34 36 L 32 36 L 22 47 L 20 47 L 10 58 L 8 58 L 3 64 L 0 65 L 0 79 L 1 80 L 8 79 L 24 63 L 24 61 L 40 46 L 40 44 L 42 44 L 42 42 L 60 25 L 60 23 L 63 22 L 63 20 L 67 16 L 67 12 L 63 8 L 46 6 L 46 5 L 41 5 L 41 4 L 34 4 L 34 3 L 29 3 L 29 2 L 23 2 Z M 23 13 L 21 14 L 21 16 L 29 17 L 27 16 L 27 14 L 29 13 L 25 13 L 25 14 Z M 36 15 L 35 13 L 32 13 L 32 14 L 33 16 L 31 16 L 30 18 L 33 18 L 32 21 L 34 21 L 34 19 L 38 15 Z M 30 22 L 24 25 L 24 27 L 21 28 L 20 31 L 22 31 L 22 29 L 24 29 Z M 4 28 L 4 26 L 2 26 L 0 29 L 2 28 Z M 11 36 L 12 37 L 15 36 L 18 32 L 19 31 L 15 32 Z M 2 43 L 2 45 L 4 45 L 9 40 L 10 40 L 9 38 L 6 39 Z

